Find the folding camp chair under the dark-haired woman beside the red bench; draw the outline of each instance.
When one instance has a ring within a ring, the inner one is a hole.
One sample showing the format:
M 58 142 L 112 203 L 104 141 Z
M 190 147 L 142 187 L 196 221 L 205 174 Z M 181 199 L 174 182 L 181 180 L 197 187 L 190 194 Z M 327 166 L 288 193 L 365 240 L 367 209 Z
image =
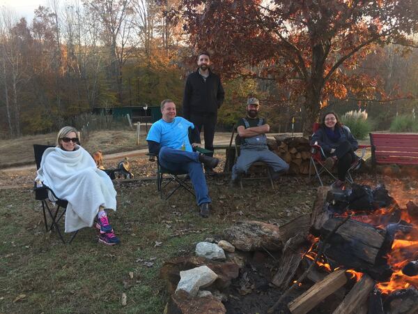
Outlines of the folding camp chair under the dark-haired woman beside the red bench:
M 320 128 L 320 124 L 318 124 L 318 122 L 314 123 L 314 133 Z M 366 148 L 370 147 L 370 145 L 359 145 L 359 149 L 362 149 L 362 154 L 360 156 L 358 156 L 356 154 L 356 156 L 358 157 L 357 160 L 355 160 L 353 162 L 353 164 L 351 164 L 350 168 L 347 170 L 347 174 L 346 174 L 346 180 L 350 183 L 353 184 L 354 183 L 354 179 L 353 179 L 353 175 L 351 174 L 353 171 L 359 169 L 359 167 L 361 166 L 362 163 L 362 158 L 364 157 L 364 155 L 366 154 Z M 334 176 L 334 174 L 332 173 L 331 169 L 328 169 L 327 167 L 325 167 L 325 159 L 327 157 L 325 156 L 325 152 L 323 151 L 322 147 L 320 147 L 320 145 L 318 144 L 311 144 L 311 160 L 309 163 L 309 180 L 311 180 L 311 175 L 312 175 L 312 169 L 314 169 L 315 171 L 315 175 L 319 180 L 319 183 L 321 186 L 323 186 L 323 180 L 321 179 L 321 174 L 323 173 L 327 173 L 330 175 L 330 177 L 333 180 L 336 180 L 336 177 Z

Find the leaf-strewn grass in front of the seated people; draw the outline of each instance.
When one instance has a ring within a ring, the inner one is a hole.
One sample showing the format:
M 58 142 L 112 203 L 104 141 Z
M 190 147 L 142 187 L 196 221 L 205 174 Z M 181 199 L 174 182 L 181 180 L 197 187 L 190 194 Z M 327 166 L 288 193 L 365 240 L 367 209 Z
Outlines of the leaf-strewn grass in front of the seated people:
M 222 234 L 237 220 L 284 223 L 308 212 L 314 198 L 313 187 L 293 177 L 276 190 L 265 188 L 265 181 L 245 186 L 211 181 L 215 211 L 208 219 L 199 218 L 191 195 L 176 193 L 163 202 L 153 183 L 118 186 L 118 211 L 109 214 L 122 241 L 115 247 L 98 244 L 92 228 L 63 245 L 57 234 L 45 234 L 30 190 L 0 190 L 0 313 L 162 313 L 168 298 L 159 278 L 164 261 L 193 254 L 197 241 Z M 150 260 L 153 267 L 146 267 Z

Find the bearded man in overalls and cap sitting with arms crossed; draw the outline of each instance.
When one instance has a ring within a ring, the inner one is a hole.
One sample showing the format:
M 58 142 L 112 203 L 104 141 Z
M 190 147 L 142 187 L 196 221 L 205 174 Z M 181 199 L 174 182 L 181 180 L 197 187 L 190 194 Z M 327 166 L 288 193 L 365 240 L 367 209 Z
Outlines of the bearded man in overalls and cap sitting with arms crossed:
M 267 119 L 258 117 L 260 102 L 251 97 L 247 100 L 247 117 L 238 120 L 238 136 L 236 143 L 240 144 L 240 156 L 232 168 L 232 184 L 237 184 L 240 175 L 247 173 L 249 167 L 256 161 L 262 161 L 272 168 L 272 177 L 277 179 L 288 171 L 289 165 L 268 149 L 265 133 L 270 132 Z

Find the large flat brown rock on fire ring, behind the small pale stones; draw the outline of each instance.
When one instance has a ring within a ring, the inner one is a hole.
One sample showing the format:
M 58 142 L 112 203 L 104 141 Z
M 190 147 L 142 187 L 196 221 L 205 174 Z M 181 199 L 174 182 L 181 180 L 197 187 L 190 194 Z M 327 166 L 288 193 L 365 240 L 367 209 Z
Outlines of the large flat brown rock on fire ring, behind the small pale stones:
M 241 251 L 280 251 L 279 227 L 261 221 L 242 221 L 224 230 L 224 238 Z

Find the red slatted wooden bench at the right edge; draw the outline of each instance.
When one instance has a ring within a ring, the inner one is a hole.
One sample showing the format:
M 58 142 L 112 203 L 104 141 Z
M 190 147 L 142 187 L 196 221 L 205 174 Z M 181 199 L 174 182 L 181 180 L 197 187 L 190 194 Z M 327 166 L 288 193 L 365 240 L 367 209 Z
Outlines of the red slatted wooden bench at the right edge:
M 371 160 L 376 165 L 418 165 L 418 134 L 370 133 Z

